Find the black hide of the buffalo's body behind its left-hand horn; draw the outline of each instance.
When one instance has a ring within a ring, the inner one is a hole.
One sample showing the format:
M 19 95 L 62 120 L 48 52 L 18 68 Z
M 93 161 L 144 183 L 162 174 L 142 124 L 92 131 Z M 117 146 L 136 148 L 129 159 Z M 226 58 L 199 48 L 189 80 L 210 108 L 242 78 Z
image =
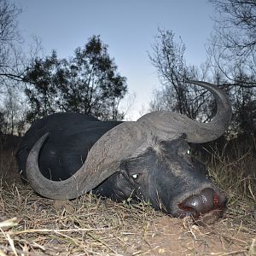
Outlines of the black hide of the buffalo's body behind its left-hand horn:
M 120 122 L 100 121 L 82 113 L 54 113 L 35 121 L 20 142 L 16 154 L 21 177 L 26 180 L 26 159 L 40 137 L 49 137 L 39 154 L 40 171 L 52 180 L 64 180 L 84 163 L 88 151 Z

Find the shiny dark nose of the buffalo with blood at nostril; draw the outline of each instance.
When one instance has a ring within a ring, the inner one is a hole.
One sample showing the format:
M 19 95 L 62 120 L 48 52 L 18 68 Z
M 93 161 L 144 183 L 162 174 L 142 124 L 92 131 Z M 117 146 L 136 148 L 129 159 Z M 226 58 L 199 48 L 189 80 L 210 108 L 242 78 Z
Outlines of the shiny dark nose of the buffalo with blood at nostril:
M 190 195 L 179 203 L 178 207 L 183 211 L 199 214 L 224 207 L 224 201 L 220 200 L 213 189 L 207 188 L 203 189 L 198 195 Z

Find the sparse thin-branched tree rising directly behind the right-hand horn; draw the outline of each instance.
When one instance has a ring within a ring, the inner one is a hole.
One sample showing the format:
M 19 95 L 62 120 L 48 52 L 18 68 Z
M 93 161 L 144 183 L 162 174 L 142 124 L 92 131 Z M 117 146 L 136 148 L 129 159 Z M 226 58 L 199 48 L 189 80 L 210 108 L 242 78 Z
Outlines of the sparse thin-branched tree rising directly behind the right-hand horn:
M 176 43 L 172 31 L 159 29 L 149 59 L 157 70 L 162 87 L 154 91 L 150 107 L 151 110 L 166 109 L 186 114 L 192 119 L 207 120 L 212 113 L 207 112 L 204 103 L 210 94 L 197 86 L 184 83 L 187 78 L 198 79 L 201 73 L 196 67 L 187 66 L 184 51 L 183 41 L 180 39 Z M 208 113 L 208 116 L 201 113 Z

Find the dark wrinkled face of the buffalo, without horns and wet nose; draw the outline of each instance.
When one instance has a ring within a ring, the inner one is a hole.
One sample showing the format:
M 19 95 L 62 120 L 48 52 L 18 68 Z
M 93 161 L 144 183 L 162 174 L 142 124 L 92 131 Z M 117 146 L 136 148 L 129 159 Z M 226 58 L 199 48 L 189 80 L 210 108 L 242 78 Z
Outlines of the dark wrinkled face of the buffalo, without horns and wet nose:
M 202 212 L 184 212 L 179 204 L 188 195 L 195 195 L 196 192 L 200 194 L 205 188 L 214 189 L 218 196 L 218 218 L 225 207 L 224 195 L 207 179 L 206 167 L 191 156 L 189 144 L 180 137 L 171 142 L 156 140 L 143 154 L 124 160 L 119 166 L 119 172 L 114 173 L 93 192 L 115 201 L 128 198 L 148 201 L 154 209 L 173 217 L 193 215 L 198 218 Z M 206 212 L 211 212 L 213 208 L 207 208 Z

